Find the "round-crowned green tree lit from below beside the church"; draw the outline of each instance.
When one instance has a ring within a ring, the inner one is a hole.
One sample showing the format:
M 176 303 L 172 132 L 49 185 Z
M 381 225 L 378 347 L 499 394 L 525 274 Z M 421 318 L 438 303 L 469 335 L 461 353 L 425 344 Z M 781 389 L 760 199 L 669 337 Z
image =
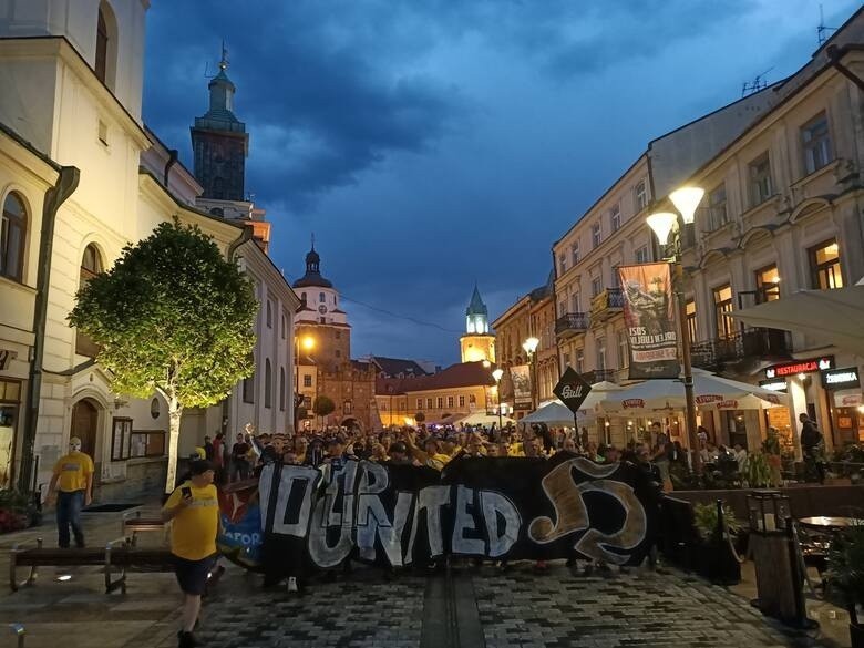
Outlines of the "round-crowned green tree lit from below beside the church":
M 210 237 L 175 219 L 123 248 L 76 298 L 70 326 L 100 346 L 112 389 L 136 398 L 155 391 L 168 403 L 171 492 L 184 408 L 218 403 L 254 371 L 251 284 Z

